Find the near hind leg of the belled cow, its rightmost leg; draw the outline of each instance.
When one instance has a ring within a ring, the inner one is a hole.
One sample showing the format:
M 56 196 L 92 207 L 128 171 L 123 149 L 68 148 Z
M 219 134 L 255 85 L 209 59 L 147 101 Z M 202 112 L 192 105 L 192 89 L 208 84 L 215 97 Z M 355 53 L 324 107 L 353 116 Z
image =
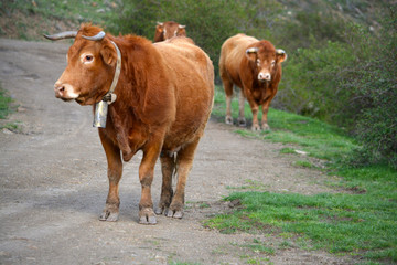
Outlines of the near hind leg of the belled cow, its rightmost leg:
M 187 174 L 192 169 L 194 152 L 195 149 L 197 148 L 198 141 L 200 141 L 200 137 L 197 137 L 194 141 L 190 142 L 189 145 L 184 146 L 176 155 L 178 182 L 176 182 L 175 194 L 172 198 L 170 209 L 167 213 L 167 216 L 169 218 L 181 219 L 183 216 L 183 205 L 184 205 Z

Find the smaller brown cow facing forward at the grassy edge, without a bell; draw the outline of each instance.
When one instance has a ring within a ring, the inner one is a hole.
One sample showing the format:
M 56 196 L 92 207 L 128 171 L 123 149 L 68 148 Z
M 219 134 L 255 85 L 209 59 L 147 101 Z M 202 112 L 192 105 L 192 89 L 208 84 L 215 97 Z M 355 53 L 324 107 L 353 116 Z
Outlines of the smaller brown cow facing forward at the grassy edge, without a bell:
M 281 80 L 281 62 L 286 60 L 286 52 L 281 49 L 276 50 L 269 41 L 237 34 L 224 42 L 221 50 L 219 73 L 226 94 L 226 124 L 233 124 L 230 103 L 235 84 L 242 89 L 238 100 L 238 124 L 246 126 L 244 117 L 246 97 L 253 112 L 251 129 L 270 129 L 267 113 Z M 258 123 L 260 105 L 261 127 Z

